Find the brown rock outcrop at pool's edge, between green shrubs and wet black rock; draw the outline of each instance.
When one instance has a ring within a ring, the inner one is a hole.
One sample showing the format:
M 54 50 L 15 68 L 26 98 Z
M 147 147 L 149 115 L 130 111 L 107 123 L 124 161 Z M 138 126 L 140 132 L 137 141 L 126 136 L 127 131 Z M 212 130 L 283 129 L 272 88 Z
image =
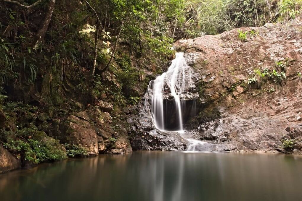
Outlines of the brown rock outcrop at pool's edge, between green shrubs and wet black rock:
M 131 152 L 127 130 L 119 133 L 111 129 L 112 117 L 97 107 L 75 112 L 62 122 L 53 123 L 51 136 L 61 143 L 76 144 L 84 147 L 88 155 L 99 153 L 124 154 Z

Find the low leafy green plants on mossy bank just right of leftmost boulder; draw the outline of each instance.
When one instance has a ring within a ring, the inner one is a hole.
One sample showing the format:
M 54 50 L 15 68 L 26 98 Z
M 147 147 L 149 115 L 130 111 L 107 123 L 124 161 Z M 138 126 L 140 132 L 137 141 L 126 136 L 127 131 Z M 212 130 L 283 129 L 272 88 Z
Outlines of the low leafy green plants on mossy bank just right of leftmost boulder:
M 25 160 L 36 164 L 67 158 L 63 150 L 58 149 L 52 142 L 43 142 L 43 140 L 10 140 L 8 143 L 4 143 L 3 146 L 15 154 L 24 155 Z

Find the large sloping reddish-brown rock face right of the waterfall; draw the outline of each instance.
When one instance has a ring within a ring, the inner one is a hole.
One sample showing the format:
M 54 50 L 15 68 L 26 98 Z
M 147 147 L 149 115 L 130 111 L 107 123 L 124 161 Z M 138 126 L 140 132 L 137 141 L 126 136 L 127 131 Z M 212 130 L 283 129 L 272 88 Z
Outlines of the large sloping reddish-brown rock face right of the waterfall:
M 291 139 L 301 137 L 302 87 L 297 77 L 302 71 L 301 26 L 297 19 L 288 26 L 240 28 L 258 33 L 247 42 L 238 39 L 235 29 L 175 43 L 194 68 L 192 79 L 205 100 L 201 113 L 187 124 L 188 130 L 197 131 L 192 133 L 195 139 L 234 151 L 276 152 L 283 147 L 288 126 L 295 128 L 289 129 Z M 278 61 L 287 63 L 285 82 L 267 79 L 261 88 L 248 85 L 256 69 L 273 71 Z

